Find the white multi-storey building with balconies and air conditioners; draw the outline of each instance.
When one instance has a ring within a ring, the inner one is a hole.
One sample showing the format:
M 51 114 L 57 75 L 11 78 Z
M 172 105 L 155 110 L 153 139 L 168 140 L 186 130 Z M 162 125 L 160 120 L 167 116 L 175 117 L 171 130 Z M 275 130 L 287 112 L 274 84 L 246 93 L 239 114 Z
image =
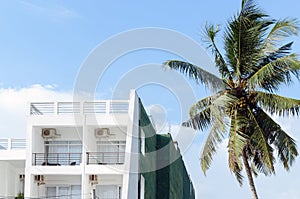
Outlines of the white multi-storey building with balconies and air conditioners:
M 122 101 L 30 103 L 26 147 L 0 139 L 0 198 L 159 198 L 156 168 L 149 177 L 141 166 L 157 161 L 147 155 L 156 141 L 147 141 L 153 127 L 141 107 L 135 91 Z

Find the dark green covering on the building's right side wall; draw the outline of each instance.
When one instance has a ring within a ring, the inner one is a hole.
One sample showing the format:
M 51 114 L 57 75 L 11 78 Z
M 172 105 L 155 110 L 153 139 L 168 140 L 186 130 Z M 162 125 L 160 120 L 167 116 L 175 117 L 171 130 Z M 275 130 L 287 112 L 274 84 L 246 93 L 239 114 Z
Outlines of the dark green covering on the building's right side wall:
M 141 173 L 145 179 L 144 198 L 194 199 L 194 189 L 180 151 L 175 148 L 170 134 L 156 135 L 142 103 L 140 103 L 139 126 L 146 137 L 146 154 L 143 156 L 140 153 L 140 169 L 151 171 Z M 156 170 L 161 165 L 165 167 Z

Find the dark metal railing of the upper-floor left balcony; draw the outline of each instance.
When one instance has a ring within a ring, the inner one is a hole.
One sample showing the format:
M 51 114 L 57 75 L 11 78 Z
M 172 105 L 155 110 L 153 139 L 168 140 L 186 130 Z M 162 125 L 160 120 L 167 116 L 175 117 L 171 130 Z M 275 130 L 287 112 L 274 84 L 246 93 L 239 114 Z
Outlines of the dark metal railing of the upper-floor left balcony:
M 33 153 L 33 166 L 63 166 L 79 165 L 81 163 L 81 153 Z

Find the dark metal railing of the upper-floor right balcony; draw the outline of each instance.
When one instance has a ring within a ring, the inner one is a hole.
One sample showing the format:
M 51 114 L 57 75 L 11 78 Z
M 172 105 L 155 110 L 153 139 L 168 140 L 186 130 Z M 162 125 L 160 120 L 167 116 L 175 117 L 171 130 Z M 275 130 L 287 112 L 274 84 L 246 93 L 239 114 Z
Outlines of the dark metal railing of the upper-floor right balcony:
M 87 152 L 87 164 L 124 164 L 125 152 Z

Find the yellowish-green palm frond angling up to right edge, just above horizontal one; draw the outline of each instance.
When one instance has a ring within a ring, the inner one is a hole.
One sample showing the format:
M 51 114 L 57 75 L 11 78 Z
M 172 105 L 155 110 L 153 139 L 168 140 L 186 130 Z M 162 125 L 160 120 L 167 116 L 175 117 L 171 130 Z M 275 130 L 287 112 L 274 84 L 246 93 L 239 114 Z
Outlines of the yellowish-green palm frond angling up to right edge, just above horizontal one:
M 300 62 L 296 54 L 278 58 L 262 66 L 248 79 L 248 87 L 250 90 L 262 88 L 273 92 L 281 84 L 291 83 L 291 75 L 299 79 Z

